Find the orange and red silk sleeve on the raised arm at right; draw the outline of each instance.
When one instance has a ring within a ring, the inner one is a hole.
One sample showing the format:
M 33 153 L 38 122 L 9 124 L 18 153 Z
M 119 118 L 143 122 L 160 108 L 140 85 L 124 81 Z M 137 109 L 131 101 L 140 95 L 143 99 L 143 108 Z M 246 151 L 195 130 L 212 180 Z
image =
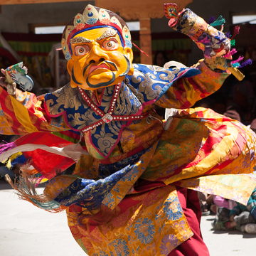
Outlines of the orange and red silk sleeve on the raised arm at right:
M 210 70 L 204 60 L 199 60 L 193 68 L 201 70 L 201 74 L 176 80 L 155 104 L 176 109 L 192 107 L 198 100 L 218 90 L 229 75 L 227 72 L 217 73 Z

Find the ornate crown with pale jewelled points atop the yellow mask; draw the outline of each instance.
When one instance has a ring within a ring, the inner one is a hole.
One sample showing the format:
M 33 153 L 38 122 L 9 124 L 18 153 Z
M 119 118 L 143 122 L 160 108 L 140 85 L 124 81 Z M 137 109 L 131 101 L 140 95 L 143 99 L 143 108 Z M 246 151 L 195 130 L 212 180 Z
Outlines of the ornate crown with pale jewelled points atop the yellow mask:
M 77 33 L 93 29 L 97 26 L 110 26 L 117 30 L 122 45 L 132 48 L 131 33 L 127 23 L 112 11 L 100 9 L 88 4 L 65 26 L 61 40 L 61 46 L 66 60 L 70 60 L 72 51 L 70 48 L 70 39 Z

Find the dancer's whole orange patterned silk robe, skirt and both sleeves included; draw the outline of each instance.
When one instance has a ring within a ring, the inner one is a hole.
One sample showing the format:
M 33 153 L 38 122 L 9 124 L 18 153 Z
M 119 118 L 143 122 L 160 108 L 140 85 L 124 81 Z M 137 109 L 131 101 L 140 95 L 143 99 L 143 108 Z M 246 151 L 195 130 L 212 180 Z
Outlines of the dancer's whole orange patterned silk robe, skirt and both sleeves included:
M 202 61 L 197 68 L 202 71 L 200 75 L 177 80 L 154 103 L 184 109 L 178 110 L 169 127 L 163 129 L 158 119 L 133 122 L 120 134 L 122 150 L 115 146 L 108 159 L 98 154 L 87 133 L 85 144 L 90 155 L 80 157 L 76 175 L 56 176 L 48 183 L 46 195 L 54 200 L 62 193 L 61 196 L 68 198 L 69 186 L 76 179 L 100 179 L 100 164 L 118 164 L 149 149 L 134 164 L 132 174 L 119 179 L 110 189 L 99 209 L 89 211 L 75 204 L 68 207 L 70 230 L 89 255 L 156 255 L 156 252 L 168 255 L 190 238 L 193 233 L 175 186 L 247 203 L 255 188 L 255 180 L 249 175 L 255 166 L 255 134 L 238 121 L 212 110 L 188 108 L 218 90 L 228 76 L 213 73 Z M 63 116 L 48 117 L 33 95 L 18 95 L 18 102 L 0 90 L 0 133 L 70 129 Z M 147 105 L 144 111 L 152 108 Z M 142 189 L 138 187 L 140 181 L 151 186 Z

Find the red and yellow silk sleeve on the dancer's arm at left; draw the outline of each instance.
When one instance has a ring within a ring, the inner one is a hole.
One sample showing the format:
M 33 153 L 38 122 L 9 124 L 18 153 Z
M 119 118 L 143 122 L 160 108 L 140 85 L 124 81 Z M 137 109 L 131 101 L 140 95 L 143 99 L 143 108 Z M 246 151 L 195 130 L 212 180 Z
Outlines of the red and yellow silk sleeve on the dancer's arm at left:
M 60 117 L 48 117 L 42 102 L 30 92 L 16 91 L 16 98 L 0 87 L 0 134 L 60 132 L 70 129 Z

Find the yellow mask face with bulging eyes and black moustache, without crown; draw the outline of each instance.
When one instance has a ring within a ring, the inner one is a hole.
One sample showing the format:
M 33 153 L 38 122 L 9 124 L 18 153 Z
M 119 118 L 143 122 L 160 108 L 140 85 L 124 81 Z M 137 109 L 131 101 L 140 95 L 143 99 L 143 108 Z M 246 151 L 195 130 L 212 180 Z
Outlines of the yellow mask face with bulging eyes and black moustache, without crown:
M 119 34 L 110 26 L 81 31 L 70 39 L 70 45 L 68 73 L 72 87 L 97 90 L 133 74 L 132 49 L 122 46 Z

